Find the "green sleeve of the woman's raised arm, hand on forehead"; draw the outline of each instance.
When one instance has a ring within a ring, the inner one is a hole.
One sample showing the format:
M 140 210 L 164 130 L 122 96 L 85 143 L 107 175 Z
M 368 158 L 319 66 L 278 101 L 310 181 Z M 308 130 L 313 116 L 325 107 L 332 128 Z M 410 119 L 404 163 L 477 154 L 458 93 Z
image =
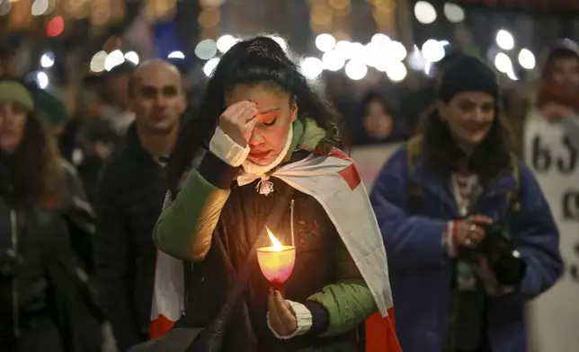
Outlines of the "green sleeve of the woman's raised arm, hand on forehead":
M 205 258 L 221 209 L 229 197 L 192 170 L 183 189 L 156 221 L 153 242 L 160 251 L 186 261 Z

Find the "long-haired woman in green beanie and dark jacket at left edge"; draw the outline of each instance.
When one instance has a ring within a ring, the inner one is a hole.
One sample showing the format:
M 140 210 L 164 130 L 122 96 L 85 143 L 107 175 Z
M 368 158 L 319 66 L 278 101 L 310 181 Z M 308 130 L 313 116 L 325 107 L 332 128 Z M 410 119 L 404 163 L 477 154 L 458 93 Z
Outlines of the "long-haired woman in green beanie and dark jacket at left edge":
M 0 345 L 96 352 L 93 209 L 37 113 L 34 92 L 0 80 Z

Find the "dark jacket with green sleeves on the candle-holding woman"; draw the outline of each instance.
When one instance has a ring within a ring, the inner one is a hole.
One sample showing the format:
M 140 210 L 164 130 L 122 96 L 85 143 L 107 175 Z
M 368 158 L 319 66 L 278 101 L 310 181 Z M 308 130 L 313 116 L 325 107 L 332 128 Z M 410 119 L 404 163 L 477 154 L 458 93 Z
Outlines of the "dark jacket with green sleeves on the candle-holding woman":
M 324 136 L 313 120 L 294 122 L 293 153 L 286 162 L 317 150 Z M 288 194 L 290 186 L 274 178 L 269 197 L 256 192 L 258 181 L 239 186 L 234 180 L 237 172 L 215 154 L 206 154 L 157 221 L 157 247 L 193 262 L 187 276 L 184 326 L 206 327 L 216 318 L 263 222 L 269 221 L 272 208 Z M 357 328 L 377 310 L 370 289 L 324 208 L 295 189 L 292 199 L 293 211 L 286 210 L 279 224 L 268 225 L 276 226 L 272 231 L 284 243 L 291 243 L 289 229 L 294 225 L 298 254 L 285 284 L 285 297 L 307 307 L 312 326 L 294 339 L 274 337 L 266 321 L 269 285 L 254 263 L 244 299 L 238 301 L 236 314 L 228 321 L 224 351 L 361 350 Z M 258 247 L 270 244 L 267 238 L 258 241 Z

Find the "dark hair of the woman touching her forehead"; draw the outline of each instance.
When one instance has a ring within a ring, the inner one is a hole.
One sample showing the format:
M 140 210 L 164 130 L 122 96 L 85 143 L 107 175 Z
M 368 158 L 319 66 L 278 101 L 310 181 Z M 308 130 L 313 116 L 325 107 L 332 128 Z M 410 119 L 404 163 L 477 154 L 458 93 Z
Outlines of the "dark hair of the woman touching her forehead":
M 218 118 L 227 108 L 227 93 L 238 84 L 274 84 L 289 92 L 298 103 L 298 119 L 315 119 L 317 125 L 327 131 L 325 141 L 340 145 L 337 112 L 307 84 L 298 66 L 280 45 L 268 37 L 244 40 L 221 57 L 205 87 L 195 118 L 181 129 L 167 169 L 168 186 L 172 191 L 178 188 L 183 173 L 191 167 L 193 157 L 213 136 Z

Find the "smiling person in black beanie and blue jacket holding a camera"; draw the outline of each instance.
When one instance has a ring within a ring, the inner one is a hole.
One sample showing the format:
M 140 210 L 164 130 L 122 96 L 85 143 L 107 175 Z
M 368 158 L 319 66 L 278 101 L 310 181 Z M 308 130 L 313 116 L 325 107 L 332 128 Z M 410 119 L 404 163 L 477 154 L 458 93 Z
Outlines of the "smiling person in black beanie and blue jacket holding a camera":
M 372 189 L 405 352 L 527 351 L 523 307 L 562 273 L 557 226 L 498 101 L 488 66 L 453 62 L 423 134 Z

